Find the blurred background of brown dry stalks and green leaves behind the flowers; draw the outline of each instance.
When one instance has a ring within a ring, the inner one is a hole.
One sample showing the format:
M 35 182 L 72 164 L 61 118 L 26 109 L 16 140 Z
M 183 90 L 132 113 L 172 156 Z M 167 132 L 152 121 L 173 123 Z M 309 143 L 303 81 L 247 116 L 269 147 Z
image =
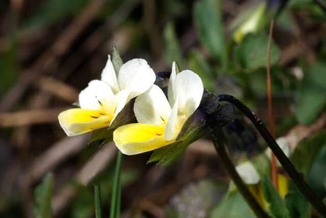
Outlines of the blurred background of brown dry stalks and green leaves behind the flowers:
M 88 134 L 68 139 L 57 116 L 100 76 L 113 43 L 123 61 L 144 58 L 155 72 L 178 61 L 208 90 L 240 98 L 267 124 L 271 18 L 277 137 L 287 140 L 295 167 L 325 197 L 325 6 L 313 0 L 2 1 L 0 216 L 94 217 L 92 183 L 101 184 L 102 211 L 110 214 L 115 146 L 87 146 Z M 285 198 L 276 192 L 265 145 L 240 114 L 224 131 L 234 163 L 249 160 L 259 172 L 272 217 L 318 217 L 291 182 Z M 146 165 L 150 153 L 123 157 L 121 216 L 254 217 L 209 138 L 178 154 L 160 167 Z

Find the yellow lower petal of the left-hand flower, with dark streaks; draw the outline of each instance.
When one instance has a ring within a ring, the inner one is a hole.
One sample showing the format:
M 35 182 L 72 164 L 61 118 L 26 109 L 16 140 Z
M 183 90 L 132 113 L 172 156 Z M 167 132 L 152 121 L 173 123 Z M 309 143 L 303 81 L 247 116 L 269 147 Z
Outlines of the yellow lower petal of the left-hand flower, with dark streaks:
M 73 108 L 61 112 L 58 119 L 66 134 L 73 136 L 108 126 L 110 117 L 112 116 L 104 115 L 101 111 Z

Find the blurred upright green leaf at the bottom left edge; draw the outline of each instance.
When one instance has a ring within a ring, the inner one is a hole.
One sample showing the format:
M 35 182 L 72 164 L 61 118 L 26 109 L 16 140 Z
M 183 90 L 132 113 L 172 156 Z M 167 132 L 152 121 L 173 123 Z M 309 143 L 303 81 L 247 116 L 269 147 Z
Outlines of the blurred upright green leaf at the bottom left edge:
M 35 205 L 34 215 L 36 218 L 50 218 L 51 199 L 53 188 L 55 187 L 55 176 L 52 173 L 47 173 L 42 183 L 35 189 Z

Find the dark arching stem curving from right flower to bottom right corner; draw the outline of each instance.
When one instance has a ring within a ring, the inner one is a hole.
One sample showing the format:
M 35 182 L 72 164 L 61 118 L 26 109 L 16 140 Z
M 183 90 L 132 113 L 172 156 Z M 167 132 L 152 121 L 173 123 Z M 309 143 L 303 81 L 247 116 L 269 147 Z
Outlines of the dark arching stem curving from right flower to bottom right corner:
M 322 203 L 321 198 L 319 198 L 313 190 L 309 187 L 309 185 L 303 179 L 303 175 L 298 173 L 291 161 L 287 158 L 287 156 L 283 153 L 282 149 L 276 143 L 275 139 L 271 136 L 266 126 L 262 123 L 262 121 L 256 117 L 256 115 L 241 101 L 236 99 L 231 95 L 219 95 L 220 101 L 227 101 L 236 106 L 244 115 L 246 115 L 251 122 L 255 125 L 259 133 L 262 135 L 263 139 L 266 141 L 269 148 L 276 155 L 278 160 L 280 161 L 282 167 L 287 172 L 287 174 L 291 177 L 294 184 L 300 190 L 300 192 L 306 197 L 306 199 L 311 203 L 311 205 L 324 217 L 326 217 L 326 205 Z

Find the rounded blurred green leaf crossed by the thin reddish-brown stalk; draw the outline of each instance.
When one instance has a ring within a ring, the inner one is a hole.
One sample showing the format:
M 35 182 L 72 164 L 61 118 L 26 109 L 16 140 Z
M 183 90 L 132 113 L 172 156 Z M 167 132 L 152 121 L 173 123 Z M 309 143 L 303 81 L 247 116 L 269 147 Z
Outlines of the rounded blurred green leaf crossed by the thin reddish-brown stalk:
M 257 69 L 266 66 L 268 36 L 265 34 L 247 34 L 236 48 L 236 57 L 243 68 Z M 275 65 L 280 58 L 279 47 L 272 42 L 270 65 Z

